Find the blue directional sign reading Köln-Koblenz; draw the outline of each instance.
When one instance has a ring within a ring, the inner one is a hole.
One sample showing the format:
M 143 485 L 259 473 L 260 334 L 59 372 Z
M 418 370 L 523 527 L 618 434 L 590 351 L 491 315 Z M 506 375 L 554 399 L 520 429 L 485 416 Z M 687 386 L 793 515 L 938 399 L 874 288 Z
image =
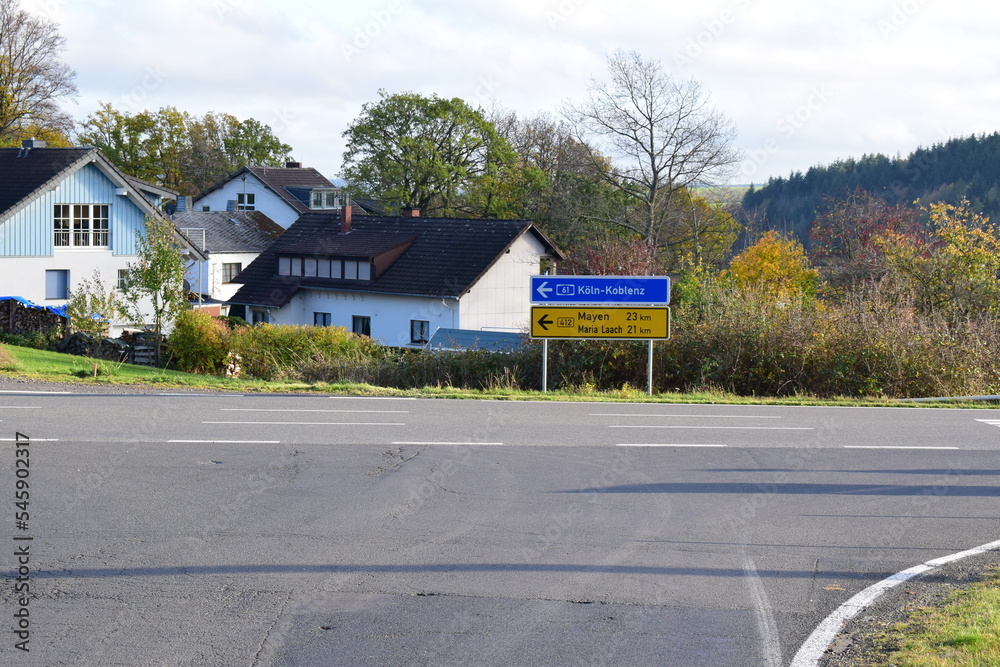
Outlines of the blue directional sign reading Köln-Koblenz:
M 532 276 L 531 303 L 670 303 L 667 276 Z

